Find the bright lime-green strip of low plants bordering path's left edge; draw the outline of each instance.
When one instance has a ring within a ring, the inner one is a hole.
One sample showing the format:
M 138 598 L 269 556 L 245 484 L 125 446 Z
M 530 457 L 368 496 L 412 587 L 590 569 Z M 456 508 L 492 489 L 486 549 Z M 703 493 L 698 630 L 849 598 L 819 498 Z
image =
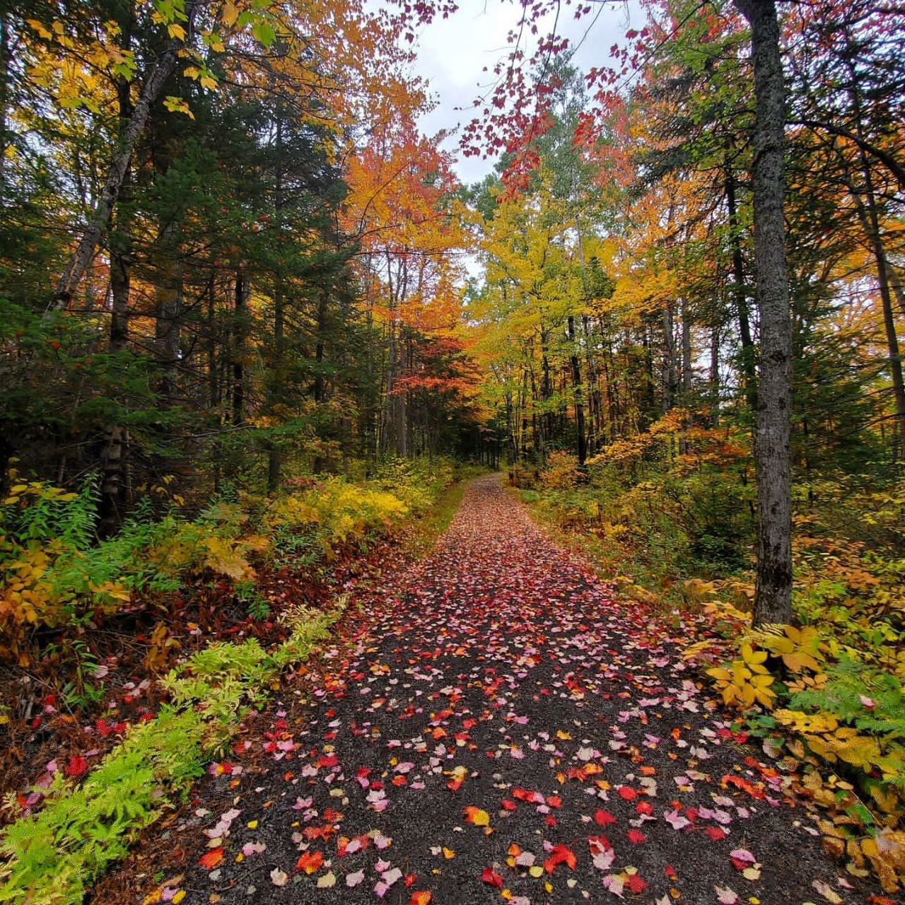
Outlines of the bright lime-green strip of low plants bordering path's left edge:
M 327 613 L 284 616 L 290 637 L 273 653 L 256 639 L 213 643 L 162 681 L 172 704 L 129 728 L 79 785 L 59 775 L 43 809 L 6 830 L 0 902 L 77 905 L 85 886 L 129 851 L 138 832 L 185 795 L 221 750 L 243 708 L 260 706 L 281 671 L 329 637 L 345 600 Z

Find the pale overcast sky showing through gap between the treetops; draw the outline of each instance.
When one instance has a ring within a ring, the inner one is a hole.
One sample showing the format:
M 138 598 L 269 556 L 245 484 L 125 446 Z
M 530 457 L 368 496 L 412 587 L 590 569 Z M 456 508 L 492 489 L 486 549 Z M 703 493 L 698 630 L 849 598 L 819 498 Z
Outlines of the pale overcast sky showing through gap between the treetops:
M 430 84 L 436 100 L 435 110 L 421 119 L 428 135 L 440 129 L 455 129 L 472 119 L 472 102 L 484 93 L 494 64 L 506 53 L 506 35 L 519 21 L 520 4 L 510 0 L 458 0 L 459 10 L 449 19 L 438 19 L 422 29 L 418 43 L 415 74 Z M 562 7 L 557 33 L 579 45 L 574 62 L 586 71 L 609 61 L 610 47 L 621 42 L 629 23 L 641 27 L 642 14 L 635 3 L 594 4 L 591 14 L 576 22 L 575 6 Z M 596 21 L 593 22 L 596 15 Z M 548 33 L 552 17 L 541 33 Z M 533 47 L 529 48 L 533 50 Z M 482 72 L 484 67 L 488 72 Z M 457 108 L 464 108 L 457 110 Z M 458 151 L 456 138 L 444 146 Z M 491 172 L 493 162 L 480 157 L 462 157 L 456 153 L 455 167 L 464 183 L 472 183 Z

